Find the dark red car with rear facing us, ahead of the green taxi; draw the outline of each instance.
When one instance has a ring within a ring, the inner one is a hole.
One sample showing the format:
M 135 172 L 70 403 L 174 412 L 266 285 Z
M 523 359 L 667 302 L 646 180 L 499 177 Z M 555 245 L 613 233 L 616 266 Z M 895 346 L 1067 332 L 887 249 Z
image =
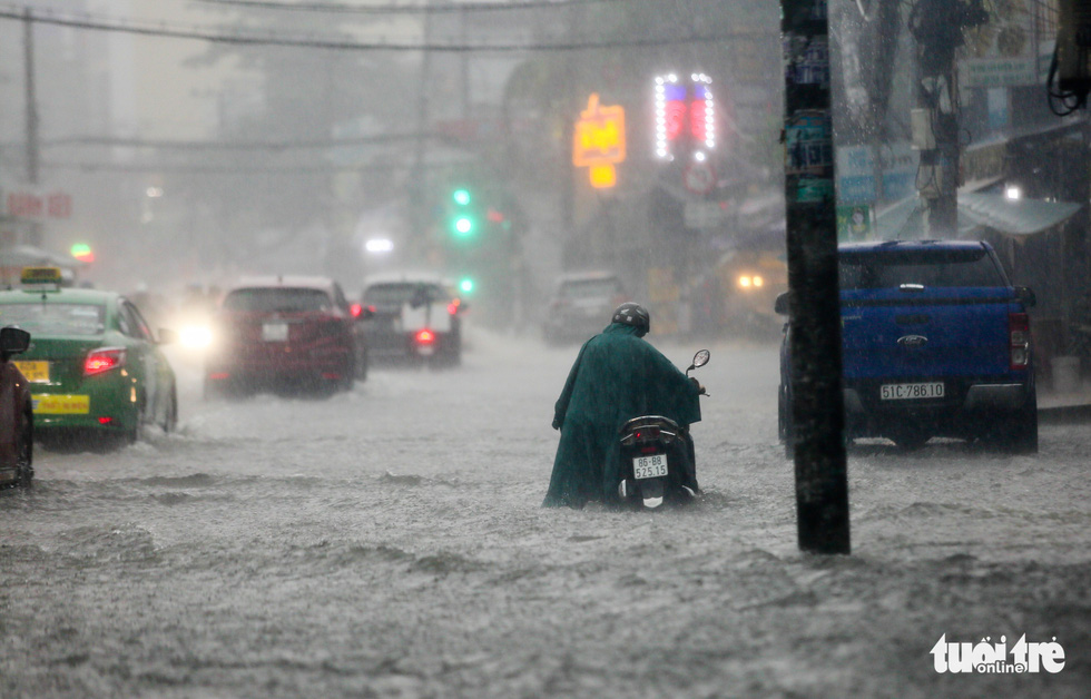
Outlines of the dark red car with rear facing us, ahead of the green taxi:
M 367 376 L 360 321 L 325 277 L 263 277 L 232 288 L 213 318 L 205 395 L 303 388 L 352 390 Z

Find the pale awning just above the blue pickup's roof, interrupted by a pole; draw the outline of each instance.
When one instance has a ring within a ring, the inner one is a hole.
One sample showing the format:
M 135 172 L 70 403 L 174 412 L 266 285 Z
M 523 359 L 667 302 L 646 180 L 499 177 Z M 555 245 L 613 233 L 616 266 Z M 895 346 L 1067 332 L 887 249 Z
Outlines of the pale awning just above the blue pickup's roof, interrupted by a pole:
M 976 238 L 982 228 L 1003 235 L 1026 237 L 1068 220 L 1080 210 L 1072 201 L 1009 199 L 1001 194 L 959 194 L 957 238 Z M 876 216 L 875 234 L 881 240 L 914 240 L 928 237 L 924 213 L 927 204 L 911 197 Z

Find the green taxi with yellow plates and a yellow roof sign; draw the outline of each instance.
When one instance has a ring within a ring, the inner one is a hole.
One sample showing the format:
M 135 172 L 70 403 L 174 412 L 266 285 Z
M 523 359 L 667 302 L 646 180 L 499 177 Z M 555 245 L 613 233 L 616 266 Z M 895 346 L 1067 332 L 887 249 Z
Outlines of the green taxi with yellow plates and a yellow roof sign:
M 174 429 L 174 371 L 129 299 L 62 287 L 56 267 L 29 267 L 21 283 L 0 291 L 0 326 L 31 334 L 13 364 L 30 384 L 36 433 L 89 430 L 132 442 L 142 425 Z M 171 335 L 160 331 L 160 341 Z

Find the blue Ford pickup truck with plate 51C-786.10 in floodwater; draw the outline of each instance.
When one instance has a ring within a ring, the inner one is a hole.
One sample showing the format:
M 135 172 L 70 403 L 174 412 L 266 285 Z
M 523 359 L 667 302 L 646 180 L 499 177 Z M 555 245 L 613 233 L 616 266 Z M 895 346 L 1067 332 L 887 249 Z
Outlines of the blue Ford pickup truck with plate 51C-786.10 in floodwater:
M 1026 308 L 983 242 L 912 240 L 838 248 L 846 439 L 910 450 L 933 436 L 1038 451 Z M 776 301 L 787 314 L 787 294 Z M 780 348 L 779 434 L 792 451 L 789 328 Z

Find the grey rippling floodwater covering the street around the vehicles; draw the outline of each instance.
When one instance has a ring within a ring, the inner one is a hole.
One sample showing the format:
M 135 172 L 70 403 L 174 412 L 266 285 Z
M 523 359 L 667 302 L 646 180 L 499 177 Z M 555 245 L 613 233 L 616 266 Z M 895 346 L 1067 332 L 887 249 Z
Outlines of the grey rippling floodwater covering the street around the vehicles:
M 805 555 L 776 348 L 711 351 L 705 495 L 661 513 L 540 508 L 576 347 L 474 334 L 330 400 L 204 402 L 173 357 L 177 434 L 0 493 L 0 696 L 1085 696 L 1091 425 L 859 445 L 853 555 Z M 944 634 L 1065 664 L 940 673 Z

